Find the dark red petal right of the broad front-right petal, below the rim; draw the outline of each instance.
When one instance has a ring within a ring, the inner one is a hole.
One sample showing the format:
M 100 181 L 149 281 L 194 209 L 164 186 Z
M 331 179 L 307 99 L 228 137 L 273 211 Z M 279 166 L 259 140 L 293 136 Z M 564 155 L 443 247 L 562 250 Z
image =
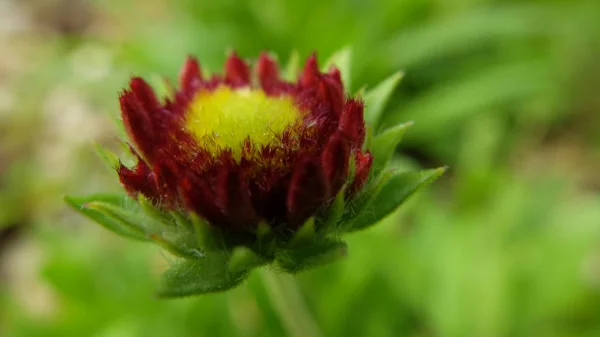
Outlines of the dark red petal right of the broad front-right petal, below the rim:
M 349 160 L 350 147 L 348 143 L 341 135 L 333 135 L 321 155 L 325 177 L 331 186 L 330 197 L 337 194 L 346 182 Z

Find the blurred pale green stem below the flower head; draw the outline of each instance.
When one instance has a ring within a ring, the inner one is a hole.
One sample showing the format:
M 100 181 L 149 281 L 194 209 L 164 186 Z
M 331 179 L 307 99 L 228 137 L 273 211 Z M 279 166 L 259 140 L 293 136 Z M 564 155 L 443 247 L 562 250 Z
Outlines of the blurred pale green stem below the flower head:
M 272 270 L 261 270 L 267 294 L 290 337 L 320 337 L 321 331 L 310 314 L 294 278 Z

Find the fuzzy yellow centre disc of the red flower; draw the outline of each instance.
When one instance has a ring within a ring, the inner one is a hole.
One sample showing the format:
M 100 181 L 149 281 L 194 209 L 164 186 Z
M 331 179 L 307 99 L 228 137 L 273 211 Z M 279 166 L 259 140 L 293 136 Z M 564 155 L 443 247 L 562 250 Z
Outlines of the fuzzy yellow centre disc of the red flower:
M 239 158 L 246 138 L 258 148 L 272 144 L 300 117 L 290 96 L 271 97 L 262 90 L 222 86 L 196 95 L 185 126 L 213 155 L 230 148 Z

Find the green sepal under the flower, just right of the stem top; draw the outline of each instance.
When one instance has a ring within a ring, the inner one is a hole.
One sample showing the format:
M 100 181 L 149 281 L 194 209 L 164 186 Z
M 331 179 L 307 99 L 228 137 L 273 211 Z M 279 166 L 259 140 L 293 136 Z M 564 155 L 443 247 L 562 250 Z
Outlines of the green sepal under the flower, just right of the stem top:
M 295 249 L 281 250 L 276 254 L 276 262 L 284 271 L 295 274 L 339 260 L 346 255 L 345 242 L 322 240 Z

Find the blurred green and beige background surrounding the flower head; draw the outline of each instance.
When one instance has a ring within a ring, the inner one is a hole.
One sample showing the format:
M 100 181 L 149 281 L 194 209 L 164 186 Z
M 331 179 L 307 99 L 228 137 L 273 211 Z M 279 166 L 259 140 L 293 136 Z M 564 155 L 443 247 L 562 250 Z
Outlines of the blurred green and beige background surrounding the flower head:
M 352 90 L 406 72 L 394 165 L 451 168 L 346 260 L 159 300 L 170 257 L 63 203 L 119 188 L 132 74 L 343 47 Z M 593 0 L 0 0 L 0 335 L 600 336 L 599 60 Z

